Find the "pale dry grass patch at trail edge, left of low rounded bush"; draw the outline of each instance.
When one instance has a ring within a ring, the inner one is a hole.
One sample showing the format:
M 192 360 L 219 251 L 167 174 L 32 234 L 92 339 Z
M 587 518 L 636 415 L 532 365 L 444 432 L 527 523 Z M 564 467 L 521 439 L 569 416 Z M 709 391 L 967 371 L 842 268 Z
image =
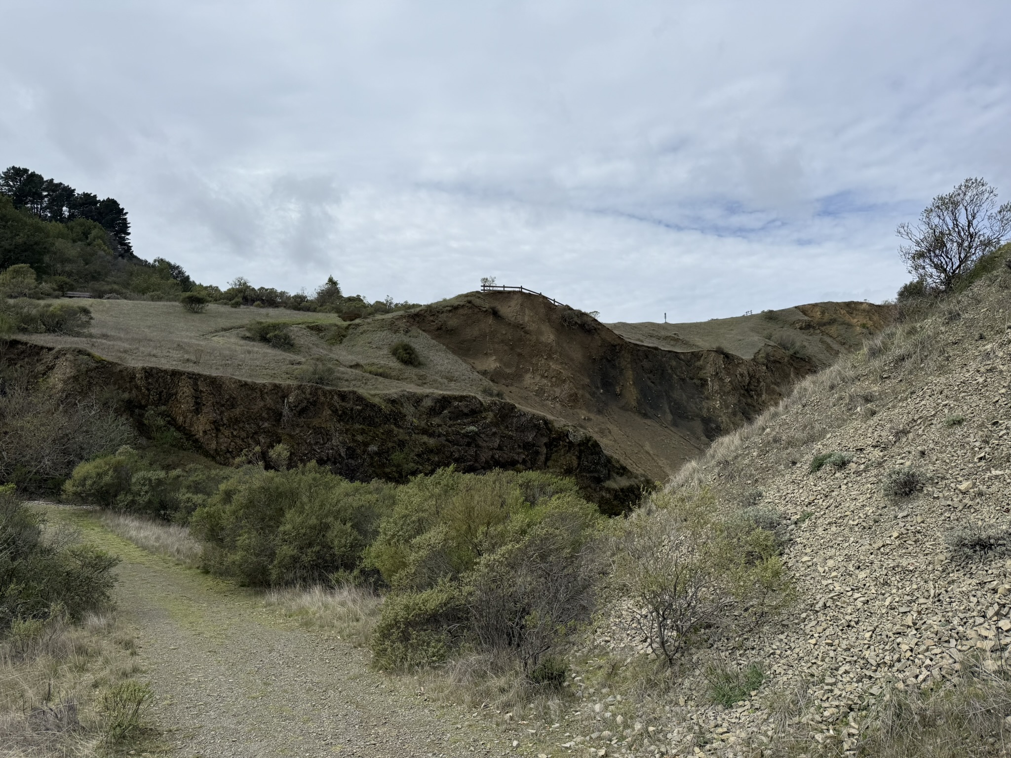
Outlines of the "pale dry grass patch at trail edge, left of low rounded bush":
M 338 639 L 365 647 L 379 621 L 382 597 L 350 584 L 316 585 L 272 589 L 264 603 L 280 608 L 305 627 L 334 630 Z

